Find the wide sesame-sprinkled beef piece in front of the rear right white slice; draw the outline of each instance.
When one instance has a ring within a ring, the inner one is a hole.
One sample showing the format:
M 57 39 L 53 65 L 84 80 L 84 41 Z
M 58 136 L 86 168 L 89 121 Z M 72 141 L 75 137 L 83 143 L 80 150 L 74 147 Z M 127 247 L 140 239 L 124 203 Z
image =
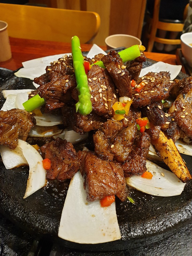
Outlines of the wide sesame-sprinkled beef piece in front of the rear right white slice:
M 144 107 L 153 102 L 166 99 L 169 96 L 169 91 L 173 86 L 169 72 L 149 72 L 144 76 L 144 79 L 142 78 L 137 82 L 137 84 L 139 84 L 143 81 L 145 84 L 142 90 L 137 92 L 135 88 L 133 88 L 134 101 L 132 105 L 134 107 Z

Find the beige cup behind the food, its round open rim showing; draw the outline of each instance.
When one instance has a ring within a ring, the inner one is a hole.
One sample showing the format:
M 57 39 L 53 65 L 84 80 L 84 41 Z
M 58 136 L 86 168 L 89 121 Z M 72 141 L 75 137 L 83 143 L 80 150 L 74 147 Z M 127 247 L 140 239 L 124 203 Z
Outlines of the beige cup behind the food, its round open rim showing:
M 132 45 L 142 45 L 142 42 L 139 38 L 134 37 L 133 35 L 124 34 L 110 35 L 109 37 L 105 38 L 105 43 L 107 45 L 107 50 L 111 48 L 129 48 Z

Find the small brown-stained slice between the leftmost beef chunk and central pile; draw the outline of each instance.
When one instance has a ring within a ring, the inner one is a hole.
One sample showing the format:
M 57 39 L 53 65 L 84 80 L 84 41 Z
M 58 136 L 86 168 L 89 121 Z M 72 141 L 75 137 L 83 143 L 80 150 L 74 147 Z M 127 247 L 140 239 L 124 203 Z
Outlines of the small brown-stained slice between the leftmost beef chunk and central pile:
M 62 132 L 57 126 L 38 126 L 35 125 L 29 133 L 29 137 L 51 137 Z

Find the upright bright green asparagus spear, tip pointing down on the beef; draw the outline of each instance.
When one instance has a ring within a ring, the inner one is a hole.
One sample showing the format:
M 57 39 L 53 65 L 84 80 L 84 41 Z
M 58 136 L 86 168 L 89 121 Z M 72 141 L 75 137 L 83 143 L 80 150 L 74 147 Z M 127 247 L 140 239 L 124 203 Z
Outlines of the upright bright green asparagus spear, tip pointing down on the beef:
M 88 115 L 92 111 L 91 94 L 89 91 L 87 75 L 83 66 L 84 58 L 81 53 L 79 38 L 75 35 L 71 39 L 73 67 L 77 81 L 79 101 L 75 104 L 76 111 L 81 115 Z

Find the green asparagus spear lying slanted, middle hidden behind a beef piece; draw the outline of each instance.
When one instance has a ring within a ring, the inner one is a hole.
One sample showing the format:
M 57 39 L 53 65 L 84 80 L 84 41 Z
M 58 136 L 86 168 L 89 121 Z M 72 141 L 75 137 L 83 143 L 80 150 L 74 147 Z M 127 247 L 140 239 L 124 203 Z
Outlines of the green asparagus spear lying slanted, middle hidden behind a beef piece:
M 126 61 L 132 61 L 133 59 L 141 56 L 140 50 L 139 50 L 139 46 L 138 45 L 133 45 L 123 51 L 119 52 L 120 57 L 122 58 L 123 62 Z M 102 61 L 98 61 L 96 63 L 93 63 L 91 66 L 93 65 L 99 65 L 99 67 L 103 67 L 105 68 L 104 64 Z

